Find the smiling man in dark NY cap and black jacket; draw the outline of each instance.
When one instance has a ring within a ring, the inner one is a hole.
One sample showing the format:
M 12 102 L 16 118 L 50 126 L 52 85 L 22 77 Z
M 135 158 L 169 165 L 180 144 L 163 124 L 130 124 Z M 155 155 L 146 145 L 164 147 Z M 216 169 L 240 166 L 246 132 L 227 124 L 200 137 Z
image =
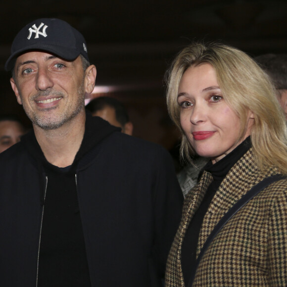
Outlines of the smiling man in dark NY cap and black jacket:
M 160 286 L 182 197 L 163 148 L 85 113 L 82 34 L 38 19 L 5 64 L 33 124 L 0 154 L 0 286 Z

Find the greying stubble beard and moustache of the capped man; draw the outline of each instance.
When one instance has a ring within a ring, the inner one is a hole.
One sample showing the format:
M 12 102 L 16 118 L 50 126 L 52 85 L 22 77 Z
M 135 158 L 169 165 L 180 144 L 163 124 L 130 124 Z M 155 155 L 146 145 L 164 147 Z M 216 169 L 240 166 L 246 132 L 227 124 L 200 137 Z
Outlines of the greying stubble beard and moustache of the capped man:
M 71 109 L 64 110 L 61 114 L 57 116 L 41 116 L 37 114 L 35 111 L 26 108 L 24 104 L 23 104 L 23 108 L 27 116 L 33 123 L 33 125 L 36 125 L 43 130 L 55 130 L 63 126 L 65 123 L 70 122 L 84 108 L 85 106 L 84 104 L 85 102 L 84 79 L 82 80 L 82 83 L 80 87 L 78 88 L 78 95 L 79 96 L 77 97 L 77 102 L 72 107 L 73 110 Z M 51 88 L 46 91 L 39 91 L 35 96 L 31 98 L 31 100 L 34 101 L 40 96 L 64 97 L 64 94 L 60 91 L 56 91 Z M 44 109 L 43 111 L 48 112 L 56 108 L 57 107 L 51 107 L 51 108 Z

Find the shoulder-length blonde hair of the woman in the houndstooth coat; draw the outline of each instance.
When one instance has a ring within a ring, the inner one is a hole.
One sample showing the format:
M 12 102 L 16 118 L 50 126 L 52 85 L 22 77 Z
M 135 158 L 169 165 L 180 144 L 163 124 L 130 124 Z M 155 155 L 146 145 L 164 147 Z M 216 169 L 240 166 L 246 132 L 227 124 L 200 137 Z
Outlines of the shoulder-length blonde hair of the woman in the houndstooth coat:
M 191 66 L 209 63 L 227 104 L 240 119 L 239 141 L 245 133 L 247 114 L 254 114 L 251 128 L 253 156 L 260 169 L 276 166 L 287 174 L 287 126 L 267 74 L 246 53 L 218 43 L 194 43 L 184 48 L 166 73 L 167 107 L 170 117 L 182 132 L 181 154 L 190 158 L 193 151 L 180 125 L 178 88 L 184 72 Z

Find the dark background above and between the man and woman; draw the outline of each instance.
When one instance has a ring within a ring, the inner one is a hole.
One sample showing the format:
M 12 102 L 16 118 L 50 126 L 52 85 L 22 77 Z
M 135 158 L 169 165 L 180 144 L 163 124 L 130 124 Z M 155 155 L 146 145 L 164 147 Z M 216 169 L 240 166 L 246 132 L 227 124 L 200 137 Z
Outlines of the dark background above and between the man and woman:
M 0 9 L 0 113 L 17 113 L 4 63 L 16 33 L 37 18 L 69 22 L 86 38 L 96 86 L 127 106 L 134 135 L 170 149 L 178 139 L 166 112 L 163 76 L 192 40 L 220 41 L 251 56 L 287 53 L 286 0 L 13 0 Z

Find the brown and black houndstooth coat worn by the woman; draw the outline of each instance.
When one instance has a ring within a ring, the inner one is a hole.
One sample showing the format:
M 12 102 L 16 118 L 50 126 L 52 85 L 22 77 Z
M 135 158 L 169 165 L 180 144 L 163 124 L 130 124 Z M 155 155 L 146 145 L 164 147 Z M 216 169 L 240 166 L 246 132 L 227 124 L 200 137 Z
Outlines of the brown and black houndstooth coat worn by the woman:
M 252 148 L 231 168 L 204 216 L 197 256 L 223 215 L 264 178 L 278 174 L 256 167 Z M 185 287 L 181 248 L 194 212 L 211 183 L 204 172 L 184 201 L 182 220 L 166 267 L 166 287 Z M 287 179 L 272 183 L 251 199 L 211 242 L 196 270 L 192 287 L 287 286 Z

